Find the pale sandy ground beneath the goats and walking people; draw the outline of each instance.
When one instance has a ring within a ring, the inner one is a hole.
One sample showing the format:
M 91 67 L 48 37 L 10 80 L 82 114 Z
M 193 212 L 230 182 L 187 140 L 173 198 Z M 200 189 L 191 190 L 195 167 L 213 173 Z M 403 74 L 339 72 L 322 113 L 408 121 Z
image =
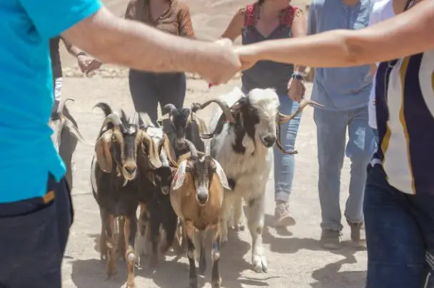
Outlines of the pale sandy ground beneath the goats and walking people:
M 206 101 L 219 93 L 228 91 L 238 82 L 214 87 L 210 91 L 206 82 L 188 81 L 186 105 L 192 101 Z M 310 93 L 310 87 L 309 87 Z M 103 120 L 103 113 L 92 110 L 99 101 L 110 103 L 115 109 L 124 108 L 131 113 L 133 106 L 129 97 L 126 78 L 65 78 L 64 98 L 74 98 L 69 103 L 71 113 L 79 123 L 81 133 L 93 142 Z M 208 110 L 209 111 L 209 110 Z M 266 202 L 266 228 L 263 242 L 268 257 L 267 274 L 256 274 L 251 269 L 251 237 L 248 231 L 232 232 L 228 245 L 221 255 L 223 287 L 285 287 L 285 288 L 361 288 L 365 282 L 366 252 L 355 250 L 349 240 L 349 229 L 343 230 L 344 247 L 338 252 L 323 251 L 318 246 L 320 237 L 320 206 L 317 180 L 318 163 L 316 128 L 313 108 L 306 108 L 296 141 L 296 177 L 291 195 L 291 210 L 297 225 L 285 230 L 268 227 L 273 215 L 273 174 L 268 180 Z M 208 118 L 207 110 L 201 111 Z M 95 250 L 100 230 L 98 206 L 91 195 L 89 168 L 92 148 L 79 144 L 74 155 L 73 200 L 76 220 L 71 230 L 69 245 L 64 258 L 65 288 L 120 288 L 125 287 L 126 264 L 118 262 L 118 275 L 105 282 L 105 262 L 100 261 Z M 348 160 L 342 173 L 342 207 L 348 195 Z M 209 258 L 209 253 L 207 254 Z M 142 258 L 146 262 L 146 258 Z M 211 264 L 208 260 L 208 264 Z M 211 287 L 211 266 L 208 266 L 204 287 Z M 144 268 L 136 271 L 137 287 L 188 287 L 188 264 L 186 257 L 174 260 L 170 255 L 152 273 Z

